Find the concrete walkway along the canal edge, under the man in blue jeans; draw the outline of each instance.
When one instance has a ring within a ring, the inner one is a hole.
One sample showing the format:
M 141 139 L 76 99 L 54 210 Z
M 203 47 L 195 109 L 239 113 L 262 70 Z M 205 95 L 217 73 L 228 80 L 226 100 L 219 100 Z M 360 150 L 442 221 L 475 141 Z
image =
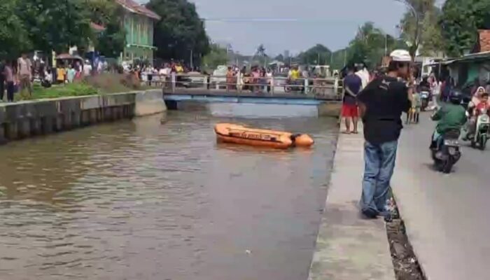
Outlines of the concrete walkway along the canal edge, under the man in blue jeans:
M 365 220 L 357 207 L 363 144 L 361 134 L 339 137 L 309 280 L 395 279 L 383 219 Z

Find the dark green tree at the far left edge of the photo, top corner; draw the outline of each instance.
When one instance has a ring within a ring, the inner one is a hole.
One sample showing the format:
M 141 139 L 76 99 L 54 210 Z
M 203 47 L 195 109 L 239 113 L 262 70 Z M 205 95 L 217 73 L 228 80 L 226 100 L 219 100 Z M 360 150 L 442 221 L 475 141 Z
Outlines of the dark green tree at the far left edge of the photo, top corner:
M 20 52 L 29 50 L 31 42 L 27 37 L 24 22 L 15 13 L 18 0 L 0 1 L 0 58 L 13 59 Z

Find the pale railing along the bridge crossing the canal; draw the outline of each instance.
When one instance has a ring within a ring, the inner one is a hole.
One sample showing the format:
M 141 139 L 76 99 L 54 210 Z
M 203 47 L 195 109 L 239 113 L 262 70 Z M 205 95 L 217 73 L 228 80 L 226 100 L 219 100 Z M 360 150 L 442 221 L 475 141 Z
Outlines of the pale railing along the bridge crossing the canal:
M 342 80 L 335 78 L 298 78 L 290 80 L 283 76 L 251 77 L 214 76 L 199 73 L 174 74 L 170 76 L 153 75 L 146 83 L 151 87 L 163 88 L 166 93 L 179 93 L 189 90 L 200 92 L 227 92 L 243 94 L 246 92 L 269 95 L 304 94 L 309 96 L 342 98 Z

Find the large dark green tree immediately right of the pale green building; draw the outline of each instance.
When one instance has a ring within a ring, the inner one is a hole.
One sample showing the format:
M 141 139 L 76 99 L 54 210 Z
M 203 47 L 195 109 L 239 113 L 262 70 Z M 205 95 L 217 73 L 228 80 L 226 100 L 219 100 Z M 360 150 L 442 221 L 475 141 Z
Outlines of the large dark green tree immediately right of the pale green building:
M 197 15 L 194 3 L 187 0 L 151 0 L 148 8 L 160 15 L 153 32 L 156 55 L 162 59 L 194 61 L 210 51 L 204 22 Z

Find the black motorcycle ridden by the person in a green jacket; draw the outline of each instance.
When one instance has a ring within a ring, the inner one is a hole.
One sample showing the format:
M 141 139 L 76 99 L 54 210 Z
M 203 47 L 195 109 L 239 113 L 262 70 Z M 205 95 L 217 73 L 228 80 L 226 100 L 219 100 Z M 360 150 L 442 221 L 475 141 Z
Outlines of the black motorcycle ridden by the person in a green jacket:
M 436 147 L 431 149 L 434 166 L 440 172 L 451 173 L 451 169 L 461 158 L 459 130 L 447 132 L 437 139 Z

